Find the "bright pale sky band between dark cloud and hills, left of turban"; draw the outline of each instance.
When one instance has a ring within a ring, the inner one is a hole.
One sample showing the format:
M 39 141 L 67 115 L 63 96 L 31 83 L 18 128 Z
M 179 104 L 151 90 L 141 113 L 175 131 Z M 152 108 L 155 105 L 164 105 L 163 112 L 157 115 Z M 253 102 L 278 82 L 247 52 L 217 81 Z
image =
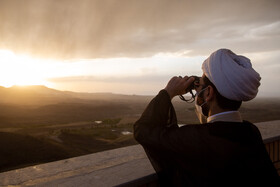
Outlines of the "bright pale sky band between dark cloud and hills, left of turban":
M 59 61 L 0 50 L 0 85 L 45 85 L 76 92 L 154 94 L 154 89 L 161 89 L 174 74 L 200 75 L 204 58 L 160 53 L 149 58 Z

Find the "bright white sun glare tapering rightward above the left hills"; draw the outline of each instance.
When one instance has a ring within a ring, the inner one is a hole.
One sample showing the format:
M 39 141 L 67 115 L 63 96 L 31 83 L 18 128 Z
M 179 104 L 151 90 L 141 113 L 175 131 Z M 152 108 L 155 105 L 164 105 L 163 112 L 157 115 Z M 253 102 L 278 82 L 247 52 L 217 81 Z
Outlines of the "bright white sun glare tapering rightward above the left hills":
M 67 64 L 55 60 L 36 59 L 18 55 L 9 50 L 0 50 L 0 86 L 44 85 L 52 86 L 48 79 L 75 76 L 83 72 L 75 63 Z

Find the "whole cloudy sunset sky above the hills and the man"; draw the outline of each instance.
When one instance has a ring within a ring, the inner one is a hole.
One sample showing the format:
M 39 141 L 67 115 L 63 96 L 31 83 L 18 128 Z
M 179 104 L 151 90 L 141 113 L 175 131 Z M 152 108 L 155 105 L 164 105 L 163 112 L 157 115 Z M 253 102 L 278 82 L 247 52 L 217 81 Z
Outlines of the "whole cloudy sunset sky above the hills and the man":
M 280 95 L 279 0 L 0 0 L 0 85 L 155 95 L 228 48 Z

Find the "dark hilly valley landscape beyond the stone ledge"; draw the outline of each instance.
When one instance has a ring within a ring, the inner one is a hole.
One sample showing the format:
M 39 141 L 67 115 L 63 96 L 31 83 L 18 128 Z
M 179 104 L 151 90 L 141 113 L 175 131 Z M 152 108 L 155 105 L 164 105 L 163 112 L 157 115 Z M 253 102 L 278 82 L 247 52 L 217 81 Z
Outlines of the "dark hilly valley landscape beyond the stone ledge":
M 152 96 L 0 87 L 0 171 L 136 144 L 133 123 Z M 198 123 L 194 104 L 174 99 L 179 123 Z M 251 122 L 280 119 L 280 99 L 243 103 Z

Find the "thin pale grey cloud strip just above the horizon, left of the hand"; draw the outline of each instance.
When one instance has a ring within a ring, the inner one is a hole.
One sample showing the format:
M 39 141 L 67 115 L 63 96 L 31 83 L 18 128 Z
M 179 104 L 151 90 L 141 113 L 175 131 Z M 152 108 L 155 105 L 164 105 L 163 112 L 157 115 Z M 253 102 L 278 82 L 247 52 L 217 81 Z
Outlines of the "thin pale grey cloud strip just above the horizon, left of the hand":
M 48 79 L 52 87 L 76 92 L 112 92 L 122 94 L 155 95 L 163 89 L 170 76 L 74 76 Z

